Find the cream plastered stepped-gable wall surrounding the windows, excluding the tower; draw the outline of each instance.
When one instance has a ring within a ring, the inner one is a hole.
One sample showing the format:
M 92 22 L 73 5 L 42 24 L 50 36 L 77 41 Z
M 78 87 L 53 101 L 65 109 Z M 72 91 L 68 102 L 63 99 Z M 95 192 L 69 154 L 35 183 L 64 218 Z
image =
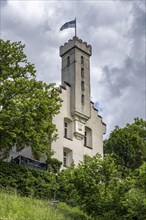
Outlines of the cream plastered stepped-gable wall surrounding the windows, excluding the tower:
M 71 88 L 66 86 L 66 89 L 62 89 L 60 94 L 63 100 L 62 107 L 60 114 L 56 115 L 53 119 L 59 136 L 57 141 L 52 143 L 52 149 L 54 150 L 54 157 L 63 163 L 63 148 L 69 148 L 73 152 L 73 161 L 77 165 L 79 161 L 83 161 L 83 157 L 86 154 L 92 157 L 98 152 L 103 155 L 103 133 L 105 133 L 105 125 L 103 125 L 98 112 L 93 108 L 91 103 L 91 118 L 86 122 L 85 126 L 92 129 L 92 149 L 84 146 L 84 139 L 78 140 L 74 135 L 72 140 L 64 138 L 64 117 L 73 121 L 70 114 L 70 91 Z

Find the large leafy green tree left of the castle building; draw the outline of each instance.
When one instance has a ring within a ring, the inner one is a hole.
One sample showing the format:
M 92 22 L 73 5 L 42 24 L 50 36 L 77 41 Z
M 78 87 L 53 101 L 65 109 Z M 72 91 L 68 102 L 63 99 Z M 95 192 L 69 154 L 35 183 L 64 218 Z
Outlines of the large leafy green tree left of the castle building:
M 37 156 L 50 154 L 57 137 L 52 118 L 61 100 L 54 84 L 36 80 L 36 70 L 21 42 L 0 40 L 0 149 L 31 146 Z

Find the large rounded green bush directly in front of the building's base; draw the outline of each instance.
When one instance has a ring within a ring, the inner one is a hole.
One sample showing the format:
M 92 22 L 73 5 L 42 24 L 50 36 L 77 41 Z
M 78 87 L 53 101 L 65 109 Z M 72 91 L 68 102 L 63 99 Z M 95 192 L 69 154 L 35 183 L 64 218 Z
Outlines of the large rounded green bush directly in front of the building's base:
M 62 171 L 59 178 L 58 194 L 66 203 L 79 206 L 95 219 L 119 220 L 123 215 L 120 198 L 128 186 L 110 155 L 87 157 L 78 167 Z

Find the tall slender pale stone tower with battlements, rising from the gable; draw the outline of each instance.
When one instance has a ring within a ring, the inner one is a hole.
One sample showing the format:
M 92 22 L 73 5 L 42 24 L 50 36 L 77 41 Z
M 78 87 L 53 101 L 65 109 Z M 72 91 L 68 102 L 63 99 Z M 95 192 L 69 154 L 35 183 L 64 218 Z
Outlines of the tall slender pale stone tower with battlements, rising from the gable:
M 71 85 L 71 115 L 75 120 L 75 135 L 84 136 L 84 124 L 91 116 L 90 56 L 92 47 L 78 37 L 73 37 L 60 47 L 62 58 L 62 85 Z M 80 127 L 78 129 L 77 127 Z

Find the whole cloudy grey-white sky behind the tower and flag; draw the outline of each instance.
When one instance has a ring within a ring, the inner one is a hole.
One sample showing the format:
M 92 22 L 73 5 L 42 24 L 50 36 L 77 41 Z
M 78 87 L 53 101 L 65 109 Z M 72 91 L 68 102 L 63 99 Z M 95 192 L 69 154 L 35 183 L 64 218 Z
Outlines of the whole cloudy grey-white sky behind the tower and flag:
M 38 80 L 61 81 L 59 46 L 74 29 L 92 45 L 91 100 L 107 124 L 107 134 L 135 117 L 146 119 L 145 0 L 1 0 L 0 35 L 22 41 Z

